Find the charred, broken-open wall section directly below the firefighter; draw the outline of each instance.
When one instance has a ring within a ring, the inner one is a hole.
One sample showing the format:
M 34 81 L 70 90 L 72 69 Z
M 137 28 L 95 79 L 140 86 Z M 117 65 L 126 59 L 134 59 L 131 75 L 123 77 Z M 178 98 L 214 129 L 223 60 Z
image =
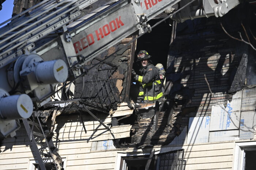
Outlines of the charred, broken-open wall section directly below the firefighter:
M 176 137 L 176 134 L 173 134 L 176 128 L 176 124 L 172 122 L 173 106 L 169 102 L 162 102 L 157 113 L 155 104 L 144 103 L 128 118 L 118 120 L 118 124 L 132 125 L 130 137 L 120 139 L 120 147 L 143 148 L 169 144 Z

